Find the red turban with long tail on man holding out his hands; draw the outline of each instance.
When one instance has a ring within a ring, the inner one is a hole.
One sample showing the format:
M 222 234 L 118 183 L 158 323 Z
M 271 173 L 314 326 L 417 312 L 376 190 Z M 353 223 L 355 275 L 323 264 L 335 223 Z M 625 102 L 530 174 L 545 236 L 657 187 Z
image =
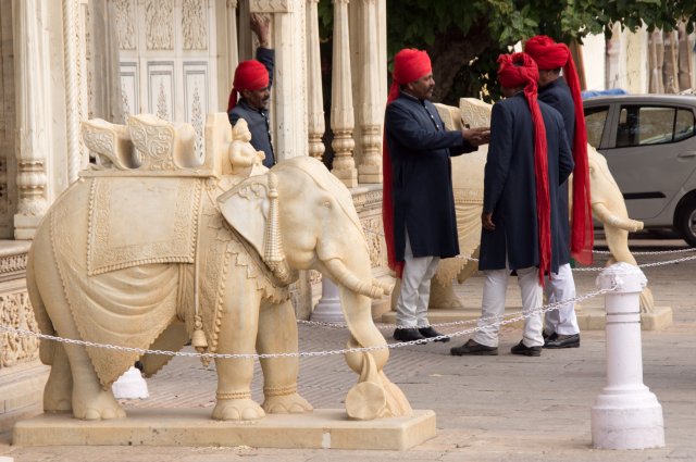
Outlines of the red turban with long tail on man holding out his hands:
M 431 58 L 425 51 L 413 48 L 405 48 L 394 57 L 394 72 L 391 74 L 391 87 L 387 97 L 387 104 L 399 97 L 399 85 L 415 82 L 433 72 Z M 386 137 L 382 143 L 382 223 L 384 225 L 384 240 L 387 245 L 387 262 L 389 267 L 401 277 L 403 262 L 396 261 L 394 248 L 394 199 L 391 198 L 391 159 L 387 147 Z

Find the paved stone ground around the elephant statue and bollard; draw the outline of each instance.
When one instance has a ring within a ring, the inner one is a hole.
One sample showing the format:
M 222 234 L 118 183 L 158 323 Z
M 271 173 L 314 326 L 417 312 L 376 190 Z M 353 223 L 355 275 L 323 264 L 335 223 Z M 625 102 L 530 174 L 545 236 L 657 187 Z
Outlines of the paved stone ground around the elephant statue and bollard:
M 601 241 L 598 242 L 599 245 Z M 685 248 L 681 240 L 634 239 L 634 250 Z M 638 255 L 649 263 L 696 255 Z M 604 258 L 597 259 L 601 265 Z M 10 446 L 0 435 L 0 455 L 16 462 L 222 462 L 222 461 L 504 461 L 504 462 L 647 462 L 696 461 L 696 260 L 646 267 L 644 272 L 657 305 L 673 309 L 674 323 L 663 332 L 643 333 L 644 383 L 662 404 L 667 447 L 638 451 L 592 449 L 589 412 L 605 385 L 605 334 L 582 333 L 582 347 L 544 350 L 540 358 L 509 354 L 521 333 L 505 328 L 499 357 L 456 358 L 449 348 L 467 337 L 443 345 L 393 350 L 387 375 L 414 409 L 437 413 L 437 436 L 409 451 L 286 450 L 249 447 L 41 447 Z M 576 273 L 579 295 L 595 289 L 597 273 Z M 482 278 L 458 287 L 468 305 L 481 302 Z M 599 299 L 587 305 L 600 305 Z M 520 305 L 511 279 L 509 305 Z M 448 333 L 469 326 L 443 329 Z M 385 326 L 385 336 L 391 330 Z M 300 326 L 300 349 L 341 348 L 338 329 Z M 341 399 L 356 382 L 340 357 L 303 359 L 300 392 L 315 408 L 343 408 Z M 259 374 L 257 374 L 259 377 Z M 214 399 L 214 371 L 190 359 L 175 359 L 148 379 L 151 398 L 128 407 L 203 407 Z M 260 399 L 260 380 L 254 384 Z M 224 445 L 224 441 L 221 441 Z

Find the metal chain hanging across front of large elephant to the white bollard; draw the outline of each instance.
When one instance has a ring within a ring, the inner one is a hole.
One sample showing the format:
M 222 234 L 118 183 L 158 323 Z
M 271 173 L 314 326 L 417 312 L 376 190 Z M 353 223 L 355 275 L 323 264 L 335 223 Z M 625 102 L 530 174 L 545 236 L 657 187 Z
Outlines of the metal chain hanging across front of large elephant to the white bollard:
M 52 340 L 52 341 L 58 341 L 58 342 L 62 342 L 62 344 L 66 344 L 66 345 L 77 345 L 77 346 L 83 346 L 83 347 L 94 347 L 94 348 L 105 348 L 105 349 L 110 349 L 110 350 L 116 350 L 116 351 L 126 351 L 126 352 L 135 352 L 135 353 L 139 353 L 140 355 L 142 354 L 162 354 L 162 355 L 169 355 L 169 357 L 187 357 L 187 358 L 207 358 L 207 359 L 271 359 L 271 358 L 315 358 L 315 357 L 328 357 L 328 355 L 335 355 L 335 354 L 347 354 L 347 353 L 359 353 L 359 352 L 370 352 L 370 351 L 376 351 L 376 350 L 383 350 L 383 349 L 395 349 L 395 348 L 402 348 L 402 347 L 407 347 L 407 346 L 413 346 L 413 345 L 423 345 L 423 344 L 428 344 L 428 342 L 433 342 L 433 341 L 437 341 L 437 340 L 442 340 L 445 338 L 455 338 L 455 337 L 461 337 L 463 335 L 468 335 L 468 334 L 473 334 L 475 332 L 478 330 L 484 330 L 487 328 L 490 328 L 493 326 L 504 326 L 507 324 L 513 324 L 517 323 L 519 321 L 523 321 L 526 320 L 529 317 L 532 317 L 536 314 L 544 314 L 547 313 L 549 311 L 554 311 L 554 310 L 558 310 L 561 305 L 567 304 L 567 303 L 571 303 L 574 301 L 582 301 L 592 297 L 597 297 L 600 295 L 605 295 L 605 294 L 609 294 L 613 290 L 616 290 L 618 288 L 618 286 L 614 284 L 612 287 L 608 288 L 608 289 L 600 289 L 600 290 L 596 290 L 594 292 L 588 292 L 582 297 L 576 297 L 572 300 L 564 300 L 564 301 L 560 301 L 560 302 L 556 302 L 556 303 L 550 303 L 548 305 L 545 307 L 540 307 L 537 310 L 532 310 L 529 313 L 521 313 L 518 314 L 513 317 L 509 317 L 506 320 L 501 320 L 498 322 L 493 322 L 489 324 L 484 324 L 484 325 L 480 325 L 473 328 L 469 328 L 469 329 L 464 329 L 464 330 L 459 330 L 452 334 L 443 334 L 439 335 L 437 337 L 430 337 L 430 338 L 423 338 L 420 340 L 412 340 L 412 341 L 402 341 L 402 342 L 398 342 L 398 344 L 387 344 L 387 345 L 381 345 L 381 346 L 375 346 L 375 347 L 361 347 L 361 348 L 344 348 L 340 350 L 330 350 L 330 351 L 300 351 L 300 352 L 288 352 L 288 353 L 237 353 L 237 354 L 232 354 L 232 353 L 197 353 L 197 352 L 188 352 L 188 351 L 165 351 L 165 350 L 149 350 L 149 349 L 145 349 L 145 348 L 133 348 L 133 347 L 121 347 L 117 345 L 109 345 L 109 344 L 97 344 L 94 341 L 88 341 L 88 340 L 75 340 L 72 338 L 62 338 L 62 337 L 57 337 L 57 336 L 52 336 L 52 335 L 47 335 L 47 334 L 41 334 L 41 333 L 36 333 L 33 330 L 27 330 L 27 329 L 21 329 L 21 328 L 15 328 L 15 327 L 10 327 L 10 326 L 4 326 L 4 325 L 0 325 L 0 332 L 7 332 L 10 334 L 15 334 L 15 335 L 21 335 L 21 336 L 33 336 L 33 337 L 37 337 L 40 338 L 42 340 Z M 517 314 L 517 313 L 512 313 L 512 314 Z M 458 322 L 459 323 L 459 322 Z M 447 324 L 458 324 L 458 323 L 447 323 Z M 442 324 L 433 324 L 433 325 L 442 325 Z

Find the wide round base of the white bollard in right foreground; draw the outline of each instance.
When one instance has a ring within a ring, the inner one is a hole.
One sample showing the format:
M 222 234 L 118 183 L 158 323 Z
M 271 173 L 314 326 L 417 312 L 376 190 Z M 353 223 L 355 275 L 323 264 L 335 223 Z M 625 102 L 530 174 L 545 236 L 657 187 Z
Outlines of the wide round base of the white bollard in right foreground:
M 602 390 L 592 408 L 592 446 L 597 449 L 664 447 L 662 407 L 647 387 Z

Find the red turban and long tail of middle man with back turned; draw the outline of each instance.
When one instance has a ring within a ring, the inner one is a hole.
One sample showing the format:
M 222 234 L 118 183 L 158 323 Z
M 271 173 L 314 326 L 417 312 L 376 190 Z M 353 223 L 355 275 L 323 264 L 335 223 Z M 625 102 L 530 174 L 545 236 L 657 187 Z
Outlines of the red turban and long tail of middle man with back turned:
M 536 63 L 525 53 L 498 57 L 498 80 L 504 87 L 524 86 L 524 98 L 530 105 L 534 125 L 534 177 L 536 180 L 536 221 L 539 241 L 539 284 L 551 267 L 551 204 L 548 185 L 548 148 L 542 110 L 536 100 L 539 72 Z

